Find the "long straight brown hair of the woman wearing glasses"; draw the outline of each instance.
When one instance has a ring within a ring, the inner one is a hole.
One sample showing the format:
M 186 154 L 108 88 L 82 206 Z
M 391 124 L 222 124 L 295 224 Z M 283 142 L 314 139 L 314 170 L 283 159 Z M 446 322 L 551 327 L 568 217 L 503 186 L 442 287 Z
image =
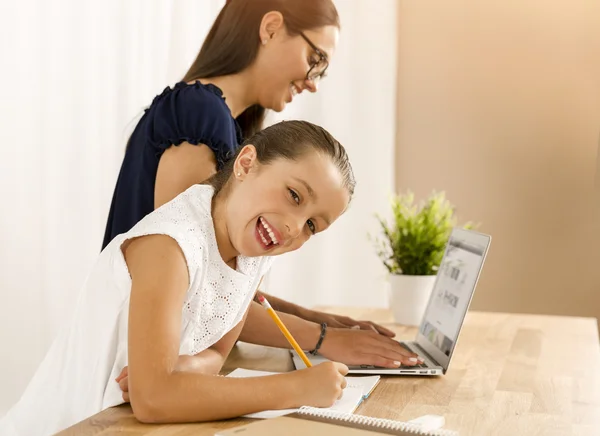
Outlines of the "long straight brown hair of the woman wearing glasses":
M 226 76 L 249 67 L 258 54 L 264 15 L 279 11 L 290 36 L 324 26 L 340 27 L 332 0 L 229 0 L 208 32 L 183 81 Z M 265 108 L 255 104 L 237 117 L 245 138 L 262 129 Z

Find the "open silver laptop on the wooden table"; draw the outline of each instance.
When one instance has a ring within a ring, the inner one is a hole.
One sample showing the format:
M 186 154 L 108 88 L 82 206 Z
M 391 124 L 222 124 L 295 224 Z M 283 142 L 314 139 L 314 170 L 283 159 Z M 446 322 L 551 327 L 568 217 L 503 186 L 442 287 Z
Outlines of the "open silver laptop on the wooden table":
M 414 341 L 400 342 L 403 347 L 423 357 L 423 364 L 399 368 L 348 366 L 350 374 L 445 374 L 491 240 L 491 236 L 473 230 L 458 227 L 452 230 L 417 336 Z M 291 352 L 296 369 L 306 368 L 300 356 L 294 350 Z M 313 365 L 327 361 L 319 355 L 308 355 L 308 358 Z

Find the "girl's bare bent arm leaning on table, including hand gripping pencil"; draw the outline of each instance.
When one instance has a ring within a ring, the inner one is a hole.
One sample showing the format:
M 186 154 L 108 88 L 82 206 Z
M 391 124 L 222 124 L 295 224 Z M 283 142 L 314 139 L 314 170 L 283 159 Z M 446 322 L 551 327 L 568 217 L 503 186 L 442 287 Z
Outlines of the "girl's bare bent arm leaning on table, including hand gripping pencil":
M 181 307 L 189 283 L 185 257 L 179 245 L 164 235 L 134 239 L 123 251 L 132 278 L 129 395 L 137 419 L 217 420 L 302 404 L 327 406 L 339 396 L 341 374 L 347 368 L 335 364 L 240 379 L 177 370 Z M 240 328 L 241 324 L 236 330 Z M 216 352 L 224 356 L 236 334 L 230 332 Z

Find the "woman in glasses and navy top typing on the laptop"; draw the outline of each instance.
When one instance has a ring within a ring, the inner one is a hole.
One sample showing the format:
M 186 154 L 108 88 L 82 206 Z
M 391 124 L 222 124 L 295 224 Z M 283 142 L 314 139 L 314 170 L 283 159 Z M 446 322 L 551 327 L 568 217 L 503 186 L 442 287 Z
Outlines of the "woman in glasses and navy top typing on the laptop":
M 297 94 L 316 92 L 339 27 L 331 0 L 228 1 L 183 80 L 154 99 L 129 139 L 103 248 L 221 169 L 243 138 L 262 128 L 266 109 L 281 111 Z M 346 364 L 417 362 L 381 326 L 269 299 L 307 350 L 319 344 L 322 355 Z M 289 347 L 258 304 L 240 339 Z

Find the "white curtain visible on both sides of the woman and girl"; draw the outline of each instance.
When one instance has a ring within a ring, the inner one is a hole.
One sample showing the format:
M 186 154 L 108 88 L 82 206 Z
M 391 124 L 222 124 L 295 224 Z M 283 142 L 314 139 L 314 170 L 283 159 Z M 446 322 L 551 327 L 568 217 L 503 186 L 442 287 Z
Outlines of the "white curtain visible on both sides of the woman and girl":
M 152 98 L 185 73 L 224 0 L 19 0 L 0 4 L 0 414 L 20 395 L 96 259 L 125 142 Z M 314 304 L 383 305 L 366 239 L 392 188 L 395 1 L 337 0 L 342 37 L 317 95 L 280 118 L 347 148 L 352 208 L 269 291 Z

